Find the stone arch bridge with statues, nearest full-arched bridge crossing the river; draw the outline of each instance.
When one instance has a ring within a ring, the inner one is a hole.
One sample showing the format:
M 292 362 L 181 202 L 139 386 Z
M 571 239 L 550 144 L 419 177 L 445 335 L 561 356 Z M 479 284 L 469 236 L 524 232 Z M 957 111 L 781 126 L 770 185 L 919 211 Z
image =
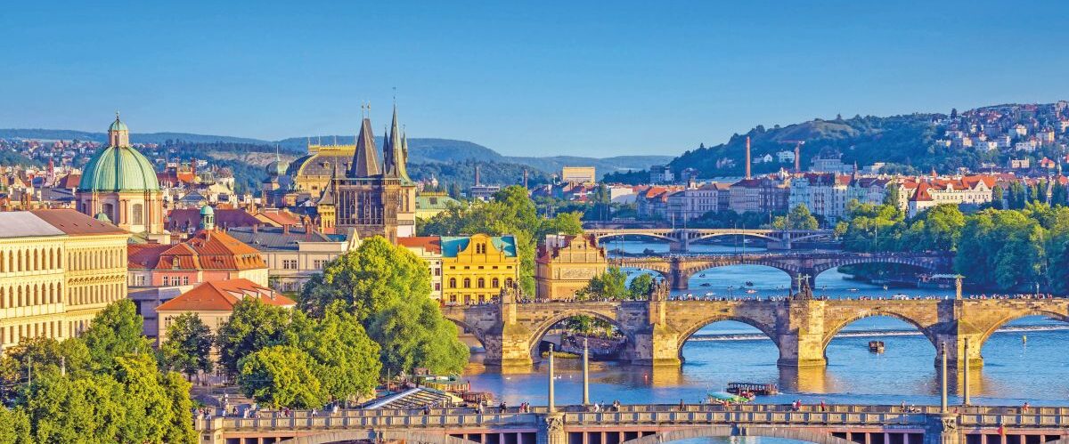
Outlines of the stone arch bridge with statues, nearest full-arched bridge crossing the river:
M 889 316 L 909 322 L 939 349 L 945 345 L 949 367 L 983 365 L 980 349 L 998 328 L 1025 316 L 1069 321 L 1069 299 L 749 299 L 667 300 L 656 291 L 645 301 L 516 302 L 511 294 L 482 305 L 441 308 L 478 338 L 484 362 L 502 371 L 530 371 L 536 349 L 553 326 L 576 315 L 616 326 L 626 338 L 621 360 L 678 369 L 682 348 L 702 327 L 722 320 L 760 330 L 779 349 L 784 367 L 822 367 L 832 338 L 851 322 Z

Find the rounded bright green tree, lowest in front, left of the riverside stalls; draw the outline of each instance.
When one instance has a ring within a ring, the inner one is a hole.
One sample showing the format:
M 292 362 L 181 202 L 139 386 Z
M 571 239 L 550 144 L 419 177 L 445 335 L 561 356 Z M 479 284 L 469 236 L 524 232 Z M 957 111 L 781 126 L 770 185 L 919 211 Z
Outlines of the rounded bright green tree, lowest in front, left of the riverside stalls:
M 317 408 L 326 399 L 311 358 L 293 346 L 272 346 L 243 358 L 237 384 L 245 396 L 275 409 Z

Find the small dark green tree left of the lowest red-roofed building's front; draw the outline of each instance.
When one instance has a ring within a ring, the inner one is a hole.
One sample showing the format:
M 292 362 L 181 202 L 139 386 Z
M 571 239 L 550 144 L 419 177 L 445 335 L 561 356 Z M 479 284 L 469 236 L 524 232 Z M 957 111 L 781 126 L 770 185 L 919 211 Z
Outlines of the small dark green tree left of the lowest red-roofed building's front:
M 212 371 L 212 345 L 215 336 L 200 316 L 184 313 L 174 318 L 167 329 L 167 338 L 160 347 L 168 368 L 192 377 L 199 371 Z

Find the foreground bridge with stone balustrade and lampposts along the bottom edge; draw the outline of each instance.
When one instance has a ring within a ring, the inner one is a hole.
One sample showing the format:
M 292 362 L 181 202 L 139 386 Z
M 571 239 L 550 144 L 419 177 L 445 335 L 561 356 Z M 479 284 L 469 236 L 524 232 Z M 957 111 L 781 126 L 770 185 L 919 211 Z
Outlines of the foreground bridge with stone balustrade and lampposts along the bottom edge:
M 493 412 L 491 412 L 493 410 Z M 1069 408 L 958 407 L 916 413 L 894 406 L 582 406 L 521 413 L 486 409 L 307 411 L 291 416 L 196 419 L 204 444 L 325 444 L 355 440 L 425 444 L 654 444 L 708 437 L 769 437 L 817 444 L 1069 444 Z M 1000 432 L 1002 427 L 1002 433 Z

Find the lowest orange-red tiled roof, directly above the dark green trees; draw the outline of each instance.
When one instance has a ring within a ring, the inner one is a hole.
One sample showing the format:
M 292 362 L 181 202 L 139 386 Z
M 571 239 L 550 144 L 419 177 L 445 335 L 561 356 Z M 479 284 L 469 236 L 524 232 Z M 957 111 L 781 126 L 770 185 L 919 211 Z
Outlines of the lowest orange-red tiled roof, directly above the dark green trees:
M 205 282 L 156 307 L 157 312 L 231 312 L 245 298 L 257 298 L 268 305 L 292 307 L 292 299 L 247 279 Z

